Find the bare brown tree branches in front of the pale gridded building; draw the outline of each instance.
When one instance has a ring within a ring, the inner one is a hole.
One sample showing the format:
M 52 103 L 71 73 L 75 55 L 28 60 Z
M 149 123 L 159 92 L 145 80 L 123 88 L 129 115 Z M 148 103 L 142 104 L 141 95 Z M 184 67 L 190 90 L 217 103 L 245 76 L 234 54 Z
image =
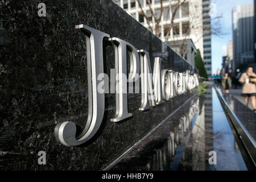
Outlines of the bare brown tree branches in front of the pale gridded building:
M 155 11 L 152 9 L 151 7 L 151 0 L 146 0 L 147 4 L 148 4 L 148 7 L 150 9 L 150 14 L 151 16 L 147 16 L 147 14 L 144 12 L 143 10 L 143 7 L 141 5 L 141 2 L 139 0 L 137 0 L 138 2 L 138 5 L 141 9 L 141 14 L 143 15 L 143 18 L 146 19 L 146 22 L 147 22 L 147 26 L 148 26 L 148 29 L 151 31 L 151 32 L 154 32 L 154 34 L 158 37 L 160 37 L 161 35 L 161 32 L 159 31 L 159 27 L 160 27 L 160 22 L 161 22 L 161 19 L 163 19 L 163 0 L 160 0 L 160 15 L 156 15 Z M 183 7 L 184 3 L 186 3 L 187 1 L 186 0 L 177 0 L 176 3 L 175 3 L 175 6 L 172 6 L 171 5 L 171 2 L 169 2 L 169 6 L 168 6 L 168 13 L 170 13 L 170 10 L 171 10 L 171 20 L 170 20 L 170 24 L 168 24 L 167 27 L 164 27 L 164 42 L 168 42 L 169 41 L 169 37 L 170 37 L 170 34 L 171 34 L 171 30 L 174 32 L 174 34 L 177 34 L 179 33 L 179 30 L 177 30 L 177 27 L 175 27 L 175 24 L 174 24 L 174 19 L 175 19 L 175 15 L 178 13 L 178 10 Z M 189 14 L 189 23 L 188 23 L 188 27 L 186 28 L 186 30 L 183 31 L 184 32 L 181 32 L 182 35 L 183 35 L 183 39 L 179 39 L 178 37 L 177 38 L 173 38 L 172 41 L 175 42 L 175 44 L 177 44 L 177 46 L 179 46 L 179 53 L 182 57 L 185 57 L 185 55 L 187 54 L 187 52 L 189 51 L 189 49 L 191 49 L 192 46 L 190 47 L 187 47 L 187 39 L 189 39 L 189 36 L 191 35 L 191 30 L 192 29 L 199 29 L 200 31 L 203 31 L 203 34 L 200 34 L 196 40 L 193 40 L 194 44 L 197 43 L 201 38 L 202 36 L 205 36 L 205 35 L 211 35 L 211 34 L 214 34 L 214 35 L 221 35 L 221 28 L 220 26 L 218 25 L 218 19 L 221 18 L 221 16 L 216 16 L 214 18 L 214 24 L 212 26 L 210 26 L 210 24 L 208 26 L 203 26 L 203 19 L 201 22 L 197 21 L 199 18 L 199 16 L 202 16 L 203 12 L 198 12 L 198 7 L 196 7 L 197 5 L 195 5 L 195 7 L 193 7 L 193 11 L 189 11 L 188 14 Z M 201 10 L 201 9 L 200 9 Z M 152 18 L 154 18 L 154 23 L 151 23 L 151 20 Z M 213 20 L 213 19 L 212 19 Z

